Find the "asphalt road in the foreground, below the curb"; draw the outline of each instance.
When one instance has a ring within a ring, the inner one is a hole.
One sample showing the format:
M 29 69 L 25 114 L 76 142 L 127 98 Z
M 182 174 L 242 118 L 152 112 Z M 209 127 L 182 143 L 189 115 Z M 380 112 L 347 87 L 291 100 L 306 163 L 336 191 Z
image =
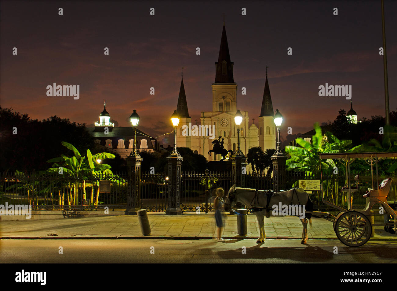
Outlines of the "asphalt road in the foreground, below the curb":
M 63 254 L 59 254 L 62 246 Z M 337 246 L 337 254 L 334 247 Z M 154 247 L 154 248 L 152 248 Z M 243 247 L 246 253 L 243 254 Z M 151 253 L 151 251 L 154 253 Z M 397 242 L 337 240 L 6 239 L 0 263 L 396 263 Z

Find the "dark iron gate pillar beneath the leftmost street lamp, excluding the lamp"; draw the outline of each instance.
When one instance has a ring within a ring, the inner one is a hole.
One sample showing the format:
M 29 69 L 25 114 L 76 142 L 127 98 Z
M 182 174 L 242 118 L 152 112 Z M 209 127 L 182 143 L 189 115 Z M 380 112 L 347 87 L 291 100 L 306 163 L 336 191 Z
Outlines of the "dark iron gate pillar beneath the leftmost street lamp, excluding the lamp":
M 141 199 L 139 181 L 141 179 L 142 158 L 139 153 L 136 152 L 134 155 L 131 153 L 126 159 L 128 169 L 128 198 L 125 215 L 137 215 L 139 201 Z

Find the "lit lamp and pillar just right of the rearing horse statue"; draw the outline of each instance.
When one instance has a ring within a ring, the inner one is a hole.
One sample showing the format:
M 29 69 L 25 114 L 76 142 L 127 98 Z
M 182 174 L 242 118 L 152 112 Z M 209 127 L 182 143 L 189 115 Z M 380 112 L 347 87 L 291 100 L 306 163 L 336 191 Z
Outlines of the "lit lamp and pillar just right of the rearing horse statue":
M 234 116 L 234 122 L 237 126 L 237 151 L 231 156 L 231 169 L 233 184 L 238 187 L 245 186 L 245 174 L 247 173 L 247 158 L 240 149 L 240 125 L 243 121 L 243 114 L 240 110 Z

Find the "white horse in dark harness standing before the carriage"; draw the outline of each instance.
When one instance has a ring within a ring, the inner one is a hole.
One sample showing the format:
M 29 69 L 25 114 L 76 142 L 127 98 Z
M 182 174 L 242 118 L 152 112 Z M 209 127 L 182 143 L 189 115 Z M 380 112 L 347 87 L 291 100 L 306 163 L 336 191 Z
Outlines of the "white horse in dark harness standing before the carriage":
M 260 234 L 258 240 L 256 241 L 257 244 L 264 243 L 266 239 L 264 227 L 265 215 L 267 218 L 269 218 L 270 216 L 292 216 L 295 214 L 286 214 L 284 213 L 284 211 L 280 213 L 278 211 L 275 211 L 275 206 L 290 205 L 296 207 L 299 204 L 301 208 L 303 208 L 304 206 L 303 209 L 306 211 L 313 210 L 313 202 L 310 199 L 310 196 L 306 193 L 305 190 L 300 188 L 291 188 L 284 191 L 273 192 L 272 190 L 260 191 L 250 188 L 240 188 L 236 187 L 236 184 L 233 184 L 225 199 L 225 211 L 233 211 L 232 208 L 237 202 L 245 204 L 249 210 L 253 210 L 252 212 L 256 215 L 256 218 L 258 219 Z M 312 213 L 307 213 L 306 211 L 304 213 L 304 217 L 299 217 L 303 225 L 301 244 L 307 243 L 307 223 L 310 223 L 310 225 L 312 224 Z

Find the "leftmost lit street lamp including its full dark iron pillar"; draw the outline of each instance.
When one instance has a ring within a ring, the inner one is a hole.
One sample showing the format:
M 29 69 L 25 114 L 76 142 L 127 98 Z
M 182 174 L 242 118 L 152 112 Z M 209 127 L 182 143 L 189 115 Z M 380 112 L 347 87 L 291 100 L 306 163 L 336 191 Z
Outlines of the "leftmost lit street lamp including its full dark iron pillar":
M 126 215 L 136 215 L 139 210 L 139 201 L 141 199 L 141 187 L 139 187 L 139 180 L 141 178 L 141 164 L 142 158 L 139 155 L 136 147 L 137 126 L 139 123 L 139 115 L 136 110 L 129 116 L 132 128 L 134 130 L 133 149 L 127 157 L 128 169 L 128 198 Z

